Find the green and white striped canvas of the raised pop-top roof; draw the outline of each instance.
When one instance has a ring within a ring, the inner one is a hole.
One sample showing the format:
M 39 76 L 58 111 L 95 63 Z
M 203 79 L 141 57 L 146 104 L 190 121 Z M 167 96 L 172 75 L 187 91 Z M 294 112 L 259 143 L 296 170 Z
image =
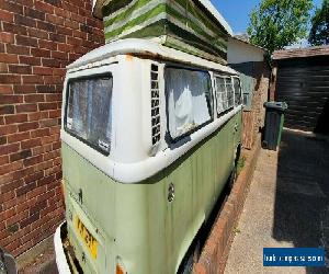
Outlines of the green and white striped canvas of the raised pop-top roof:
M 112 0 L 103 8 L 103 15 L 107 43 L 161 37 L 166 46 L 227 64 L 228 34 L 194 0 Z

